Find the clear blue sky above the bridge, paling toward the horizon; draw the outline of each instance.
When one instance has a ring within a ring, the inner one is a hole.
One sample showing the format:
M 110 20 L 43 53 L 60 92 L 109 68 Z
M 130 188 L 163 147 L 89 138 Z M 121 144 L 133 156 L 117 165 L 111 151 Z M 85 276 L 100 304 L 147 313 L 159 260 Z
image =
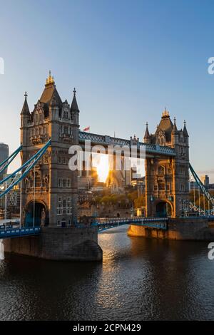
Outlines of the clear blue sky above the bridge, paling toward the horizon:
M 18 147 L 24 91 L 32 110 L 50 68 L 91 132 L 142 139 L 165 106 L 185 119 L 190 160 L 214 182 L 213 12 L 211 0 L 0 0 L 0 141 Z

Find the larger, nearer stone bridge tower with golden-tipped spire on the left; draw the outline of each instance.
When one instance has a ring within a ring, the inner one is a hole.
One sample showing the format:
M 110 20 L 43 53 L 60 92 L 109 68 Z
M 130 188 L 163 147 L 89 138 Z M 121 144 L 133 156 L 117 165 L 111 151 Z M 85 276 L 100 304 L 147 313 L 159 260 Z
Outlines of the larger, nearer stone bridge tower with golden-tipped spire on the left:
M 41 98 L 30 113 L 25 94 L 21 110 L 21 163 L 51 138 L 51 146 L 22 181 L 21 222 L 24 225 L 69 226 L 76 222 L 77 171 L 68 168 L 68 148 L 78 144 L 76 90 L 71 107 L 61 101 L 49 73 Z

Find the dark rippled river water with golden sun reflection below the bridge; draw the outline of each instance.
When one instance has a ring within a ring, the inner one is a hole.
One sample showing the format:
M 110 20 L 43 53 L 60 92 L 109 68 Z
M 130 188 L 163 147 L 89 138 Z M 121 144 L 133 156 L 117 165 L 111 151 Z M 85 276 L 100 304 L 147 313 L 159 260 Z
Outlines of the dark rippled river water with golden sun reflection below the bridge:
M 214 260 L 207 242 L 99 234 L 103 263 L 6 254 L 0 320 L 214 319 Z

